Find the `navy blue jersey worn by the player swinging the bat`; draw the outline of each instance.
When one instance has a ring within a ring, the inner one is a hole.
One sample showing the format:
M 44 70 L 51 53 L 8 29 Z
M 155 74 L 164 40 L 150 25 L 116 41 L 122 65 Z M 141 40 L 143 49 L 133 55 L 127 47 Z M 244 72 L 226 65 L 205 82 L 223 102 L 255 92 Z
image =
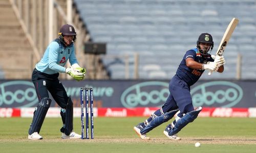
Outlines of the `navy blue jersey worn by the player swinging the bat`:
M 186 65 L 187 58 L 193 58 L 195 61 L 205 64 L 207 63 L 207 61 L 214 61 L 214 59 L 211 58 L 210 54 L 202 56 L 197 48 L 186 52 L 182 61 L 180 62 L 180 65 L 176 72 L 176 76 L 178 76 L 181 80 L 185 81 L 188 85 L 191 86 L 197 82 L 197 80 L 203 74 L 204 70 L 195 70 L 188 68 Z

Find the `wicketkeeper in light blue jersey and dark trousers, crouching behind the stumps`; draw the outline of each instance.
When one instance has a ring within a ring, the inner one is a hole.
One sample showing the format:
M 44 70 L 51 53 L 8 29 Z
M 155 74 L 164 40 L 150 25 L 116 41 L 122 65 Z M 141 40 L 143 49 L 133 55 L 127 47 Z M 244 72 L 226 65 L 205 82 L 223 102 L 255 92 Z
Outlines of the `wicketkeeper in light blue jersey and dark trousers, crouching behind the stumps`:
M 76 41 L 76 32 L 74 27 L 68 24 L 63 25 L 58 35 L 59 37 L 49 44 L 44 56 L 35 65 L 32 73 L 32 81 L 39 102 L 35 108 L 33 120 L 29 127 L 28 139 L 42 139 L 39 135 L 40 129 L 52 102 L 48 92 L 61 107 L 60 116 L 63 123 L 60 128 L 61 138 L 81 138 L 81 135 L 73 131 L 73 102 L 71 97 L 68 97 L 58 76 L 59 73 L 67 73 L 75 80 L 81 81 L 84 78 L 86 69 L 78 65 L 75 56 L 74 42 Z M 71 68 L 64 67 L 68 60 L 71 63 Z

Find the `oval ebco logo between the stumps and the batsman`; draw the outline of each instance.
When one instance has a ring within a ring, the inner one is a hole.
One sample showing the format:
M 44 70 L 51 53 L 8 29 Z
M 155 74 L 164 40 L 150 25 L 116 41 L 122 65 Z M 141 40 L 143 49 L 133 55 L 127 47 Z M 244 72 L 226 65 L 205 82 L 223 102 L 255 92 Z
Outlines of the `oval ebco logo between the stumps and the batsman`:
M 168 83 L 160 81 L 142 82 L 127 88 L 121 95 L 125 107 L 148 106 L 165 102 L 169 95 Z

